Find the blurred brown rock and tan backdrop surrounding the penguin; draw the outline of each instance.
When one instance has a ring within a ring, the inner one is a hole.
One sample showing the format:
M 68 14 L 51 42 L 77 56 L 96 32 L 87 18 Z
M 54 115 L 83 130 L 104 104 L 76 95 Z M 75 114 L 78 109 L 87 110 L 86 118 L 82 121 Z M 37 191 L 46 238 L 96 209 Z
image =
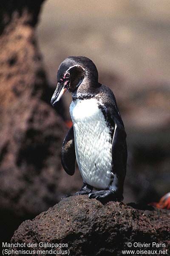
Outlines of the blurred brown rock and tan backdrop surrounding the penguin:
M 79 172 L 69 177 L 60 163 L 71 96 L 50 106 L 57 68 L 69 55 L 91 58 L 116 96 L 127 131 L 125 202 L 158 201 L 170 190 L 170 2 L 0 5 L 2 240 L 81 186 Z

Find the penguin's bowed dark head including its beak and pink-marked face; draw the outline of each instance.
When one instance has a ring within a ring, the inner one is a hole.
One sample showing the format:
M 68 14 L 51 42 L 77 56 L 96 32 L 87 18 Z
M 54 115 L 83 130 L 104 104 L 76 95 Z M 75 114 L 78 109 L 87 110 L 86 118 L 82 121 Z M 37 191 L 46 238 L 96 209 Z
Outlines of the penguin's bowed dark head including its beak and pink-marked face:
M 57 88 L 51 98 L 55 106 L 62 95 L 75 92 L 86 81 L 91 86 L 98 83 L 98 72 L 95 64 L 85 56 L 70 56 L 59 65 L 57 72 Z

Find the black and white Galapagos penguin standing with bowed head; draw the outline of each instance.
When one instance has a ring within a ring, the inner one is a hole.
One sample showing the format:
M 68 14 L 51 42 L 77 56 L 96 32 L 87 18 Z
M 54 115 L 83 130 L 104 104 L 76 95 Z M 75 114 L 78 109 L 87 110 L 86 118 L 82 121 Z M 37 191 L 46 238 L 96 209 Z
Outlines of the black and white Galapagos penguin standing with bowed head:
M 113 92 L 98 82 L 97 68 L 85 56 L 70 56 L 59 65 L 51 105 L 55 106 L 65 92 L 72 95 L 73 125 L 62 144 L 62 166 L 73 175 L 77 161 L 83 179 L 80 191 L 72 195 L 121 201 L 127 144 Z

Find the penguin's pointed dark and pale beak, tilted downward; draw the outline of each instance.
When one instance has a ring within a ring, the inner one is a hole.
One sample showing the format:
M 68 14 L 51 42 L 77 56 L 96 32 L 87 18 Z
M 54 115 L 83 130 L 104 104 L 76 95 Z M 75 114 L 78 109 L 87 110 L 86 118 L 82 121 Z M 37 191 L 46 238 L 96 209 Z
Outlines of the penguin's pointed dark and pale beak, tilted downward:
M 51 105 L 54 107 L 57 102 L 61 99 L 62 95 L 68 90 L 68 84 L 69 81 L 65 81 L 64 84 L 63 83 L 59 83 L 57 84 L 57 88 L 53 93 L 53 96 L 51 98 Z

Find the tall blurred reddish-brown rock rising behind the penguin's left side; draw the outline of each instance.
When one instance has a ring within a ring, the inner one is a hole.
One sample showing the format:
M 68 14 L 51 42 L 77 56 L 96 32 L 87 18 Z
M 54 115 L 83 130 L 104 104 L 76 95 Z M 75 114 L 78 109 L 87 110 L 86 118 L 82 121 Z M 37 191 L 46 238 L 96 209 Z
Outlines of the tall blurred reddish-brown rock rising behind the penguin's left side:
M 0 3 L 0 219 L 4 240 L 21 220 L 33 218 L 81 186 L 71 180 L 64 183 L 60 152 L 67 128 L 50 105 L 52 90 L 34 28 L 42 2 Z M 64 112 L 62 103 L 58 108 Z

